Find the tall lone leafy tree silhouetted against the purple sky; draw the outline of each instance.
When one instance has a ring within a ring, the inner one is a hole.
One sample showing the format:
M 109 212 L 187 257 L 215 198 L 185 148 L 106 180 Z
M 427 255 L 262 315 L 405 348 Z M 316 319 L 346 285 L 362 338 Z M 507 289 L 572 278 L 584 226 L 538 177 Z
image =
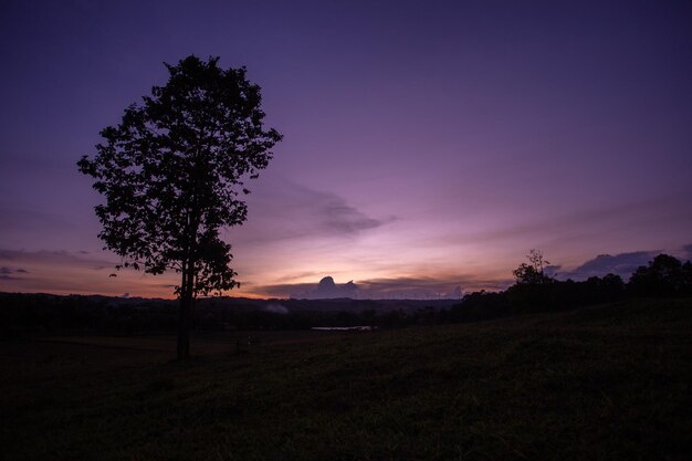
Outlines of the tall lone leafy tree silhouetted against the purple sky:
M 127 107 L 120 124 L 101 132 L 96 156 L 77 163 L 105 197 L 95 208 L 98 237 L 123 259 L 117 269 L 181 274 L 179 359 L 189 355 L 195 298 L 238 286 L 219 229 L 245 220 L 243 181 L 268 166 L 282 138 L 263 128 L 260 87 L 245 69 L 218 61 L 166 64 L 168 83 Z

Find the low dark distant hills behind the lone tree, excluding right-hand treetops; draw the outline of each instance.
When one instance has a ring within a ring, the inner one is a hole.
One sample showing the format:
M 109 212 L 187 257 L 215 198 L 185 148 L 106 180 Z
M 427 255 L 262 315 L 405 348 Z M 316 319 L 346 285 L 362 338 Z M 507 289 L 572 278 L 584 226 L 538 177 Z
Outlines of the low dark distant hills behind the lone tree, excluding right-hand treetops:
M 400 327 L 434 323 L 452 300 L 198 300 L 193 328 L 308 329 L 316 326 Z M 101 295 L 0 293 L 0 337 L 174 332 L 176 300 Z

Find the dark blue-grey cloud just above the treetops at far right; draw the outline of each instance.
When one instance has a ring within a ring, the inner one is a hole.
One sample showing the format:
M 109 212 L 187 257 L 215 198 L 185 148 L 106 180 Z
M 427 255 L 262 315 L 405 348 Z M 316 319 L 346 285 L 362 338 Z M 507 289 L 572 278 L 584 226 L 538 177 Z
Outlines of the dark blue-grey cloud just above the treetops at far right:
M 620 275 L 627 281 L 637 268 L 647 265 L 658 253 L 660 253 L 659 250 L 633 251 L 616 255 L 599 254 L 572 271 L 558 273 L 557 277 L 560 280 L 574 279 L 580 281 L 590 276 L 604 276 L 608 273 L 612 273 Z

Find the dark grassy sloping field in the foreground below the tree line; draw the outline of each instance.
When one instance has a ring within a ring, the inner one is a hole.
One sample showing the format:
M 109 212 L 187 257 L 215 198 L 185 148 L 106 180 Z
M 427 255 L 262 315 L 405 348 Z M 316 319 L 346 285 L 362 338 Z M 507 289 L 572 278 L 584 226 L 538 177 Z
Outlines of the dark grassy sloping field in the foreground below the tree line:
M 692 455 L 690 300 L 192 347 L 179 364 L 171 337 L 0 343 L 0 458 Z

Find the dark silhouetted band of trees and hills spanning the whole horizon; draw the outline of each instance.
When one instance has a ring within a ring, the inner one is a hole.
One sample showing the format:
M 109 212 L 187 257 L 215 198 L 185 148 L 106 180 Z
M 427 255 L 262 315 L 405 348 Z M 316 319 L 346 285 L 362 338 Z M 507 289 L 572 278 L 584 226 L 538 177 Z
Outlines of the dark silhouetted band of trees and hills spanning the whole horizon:
M 281 301 L 281 312 L 253 300 L 209 297 L 198 301 L 195 331 L 307 329 L 314 326 L 370 325 L 400 328 L 415 325 L 478 322 L 533 312 L 558 312 L 632 297 L 692 296 L 692 263 L 659 254 L 637 269 L 628 282 L 615 274 L 585 281 L 559 281 L 545 273 L 545 261 L 532 251 L 515 271 L 515 282 L 501 292 L 474 292 L 450 307 L 387 305 L 377 301 Z M 0 293 L 2 337 L 43 334 L 137 335 L 172 333 L 177 302 L 129 301 L 103 296 L 56 296 Z M 266 302 L 264 302 L 266 303 Z M 325 308 L 325 303 L 331 308 Z M 334 308 L 334 305 L 338 306 Z

